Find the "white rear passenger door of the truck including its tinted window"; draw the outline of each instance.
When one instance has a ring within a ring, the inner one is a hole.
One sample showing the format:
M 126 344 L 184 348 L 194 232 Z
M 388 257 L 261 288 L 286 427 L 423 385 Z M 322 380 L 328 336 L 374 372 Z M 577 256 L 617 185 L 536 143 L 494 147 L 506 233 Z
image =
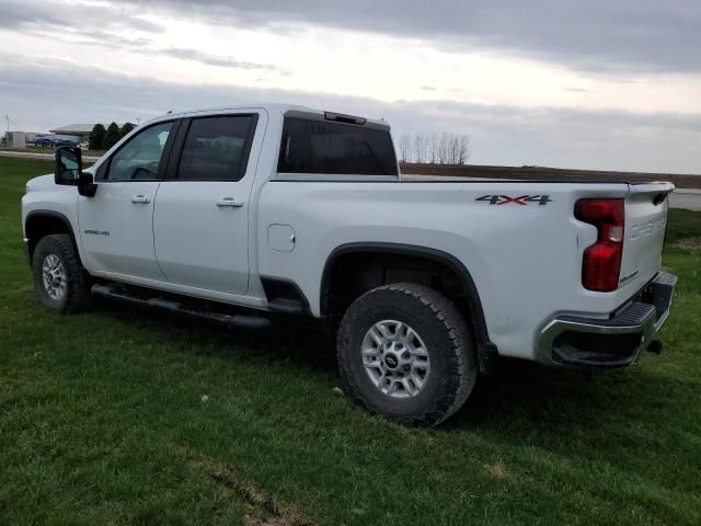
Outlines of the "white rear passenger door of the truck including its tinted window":
M 265 116 L 186 118 L 153 215 L 156 259 L 173 284 L 229 294 L 249 288 L 250 197 Z M 252 151 L 255 150 L 255 151 Z

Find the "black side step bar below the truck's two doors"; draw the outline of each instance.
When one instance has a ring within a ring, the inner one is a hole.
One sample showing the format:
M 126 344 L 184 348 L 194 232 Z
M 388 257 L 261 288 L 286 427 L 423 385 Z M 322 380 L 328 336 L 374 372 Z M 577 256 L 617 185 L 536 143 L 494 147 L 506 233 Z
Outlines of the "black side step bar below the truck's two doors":
M 114 299 L 122 301 L 123 304 L 138 305 L 141 307 L 152 307 L 161 310 L 168 310 L 179 315 L 189 316 L 192 318 L 198 318 L 200 320 L 214 321 L 221 323 L 231 329 L 246 329 L 246 330 L 261 330 L 271 327 L 271 320 L 264 317 L 253 316 L 240 316 L 240 315 L 223 315 L 220 312 L 211 312 L 208 310 L 191 309 L 184 304 L 177 301 L 171 301 L 163 298 L 149 298 L 142 299 L 130 294 L 118 290 L 110 285 L 95 284 L 91 288 L 92 294 L 101 296 L 107 299 Z

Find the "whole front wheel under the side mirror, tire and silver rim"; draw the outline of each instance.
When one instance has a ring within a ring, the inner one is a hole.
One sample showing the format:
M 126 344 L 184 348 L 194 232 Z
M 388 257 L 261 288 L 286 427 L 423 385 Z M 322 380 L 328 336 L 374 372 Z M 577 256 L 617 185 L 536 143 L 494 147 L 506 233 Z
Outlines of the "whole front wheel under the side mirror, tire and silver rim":
M 46 236 L 32 256 L 34 288 L 42 302 L 60 312 L 79 312 L 92 306 L 89 276 L 67 233 Z

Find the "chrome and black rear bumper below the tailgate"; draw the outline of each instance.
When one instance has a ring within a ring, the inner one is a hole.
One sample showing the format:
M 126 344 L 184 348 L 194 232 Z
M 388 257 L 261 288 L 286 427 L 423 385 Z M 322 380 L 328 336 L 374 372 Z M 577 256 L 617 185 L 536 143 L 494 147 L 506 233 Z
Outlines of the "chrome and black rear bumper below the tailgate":
M 562 316 L 541 331 L 537 359 L 547 365 L 624 367 L 653 342 L 669 316 L 677 276 L 660 272 L 609 319 Z

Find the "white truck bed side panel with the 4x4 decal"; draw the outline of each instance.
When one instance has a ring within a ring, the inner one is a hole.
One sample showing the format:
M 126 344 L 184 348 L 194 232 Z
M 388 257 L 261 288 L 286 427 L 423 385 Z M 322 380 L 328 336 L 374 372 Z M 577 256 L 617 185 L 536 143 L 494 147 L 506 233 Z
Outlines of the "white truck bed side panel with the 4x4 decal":
M 273 181 L 260 198 L 258 271 L 292 279 L 320 316 L 321 276 L 337 247 L 387 242 L 444 251 L 471 273 L 499 353 L 532 358 L 545 320 L 568 312 L 605 317 L 629 299 L 629 287 L 582 287 L 582 254 L 596 229 L 573 215 L 579 198 L 620 198 L 628 191 L 605 183 Z M 276 224 L 294 229 L 290 252 L 269 247 L 268 226 Z

